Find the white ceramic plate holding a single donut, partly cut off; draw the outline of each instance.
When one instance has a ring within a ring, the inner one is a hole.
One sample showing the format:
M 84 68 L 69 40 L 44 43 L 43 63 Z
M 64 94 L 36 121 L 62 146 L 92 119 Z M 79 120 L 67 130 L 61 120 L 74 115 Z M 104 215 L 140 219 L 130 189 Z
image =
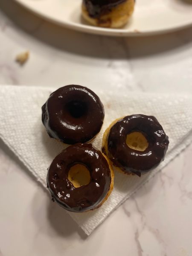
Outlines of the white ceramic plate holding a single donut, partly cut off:
M 134 15 L 122 29 L 105 29 L 85 23 L 81 19 L 81 0 L 16 1 L 47 20 L 99 35 L 151 35 L 192 25 L 192 0 L 136 0 Z

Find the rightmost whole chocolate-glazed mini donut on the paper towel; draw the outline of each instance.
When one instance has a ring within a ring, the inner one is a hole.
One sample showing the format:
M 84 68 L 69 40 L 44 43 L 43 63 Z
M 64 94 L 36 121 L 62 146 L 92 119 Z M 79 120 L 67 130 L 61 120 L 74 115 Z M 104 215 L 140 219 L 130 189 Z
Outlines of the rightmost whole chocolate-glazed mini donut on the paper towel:
M 168 145 L 157 119 L 140 114 L 114 121 L 104 133 L 102 151 L 117 170 L 141 176 L 164 160 Z

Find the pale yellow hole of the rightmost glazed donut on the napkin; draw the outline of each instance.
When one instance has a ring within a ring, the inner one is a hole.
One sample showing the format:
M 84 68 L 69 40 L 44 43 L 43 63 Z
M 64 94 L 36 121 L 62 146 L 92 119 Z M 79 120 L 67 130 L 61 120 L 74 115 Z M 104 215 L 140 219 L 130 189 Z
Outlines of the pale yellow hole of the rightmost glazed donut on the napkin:
M 139 132 L 134 131 L 127 135 L 126 143 L 129 148 L 137 151 L 145 151 L 148 148 L 148 141 L 145 136 Z

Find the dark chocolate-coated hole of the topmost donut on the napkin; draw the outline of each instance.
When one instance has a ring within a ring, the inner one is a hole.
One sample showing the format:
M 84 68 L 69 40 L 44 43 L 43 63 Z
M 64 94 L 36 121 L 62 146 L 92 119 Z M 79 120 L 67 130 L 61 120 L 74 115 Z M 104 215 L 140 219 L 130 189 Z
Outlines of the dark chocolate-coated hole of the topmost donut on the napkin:
M 74 118 L 80 118 L 87 113 L 87 104 L 85 102 L 73 100 L 68 102 L 66 107 L 67 111 L 70 113 L 70 116 L 73 116 Z

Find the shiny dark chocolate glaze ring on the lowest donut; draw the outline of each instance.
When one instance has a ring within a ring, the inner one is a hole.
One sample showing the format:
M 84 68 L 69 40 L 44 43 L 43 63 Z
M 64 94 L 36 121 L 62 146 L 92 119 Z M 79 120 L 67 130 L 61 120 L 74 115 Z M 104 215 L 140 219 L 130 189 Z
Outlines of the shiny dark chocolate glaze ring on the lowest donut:
M 75 188 L 68 180 L 70 167 L 80 163 L 90 171 L 90 183 Z M 97 207 L 111 185 L 111 172 L 102 153 L 91 144 L 75 144 L 62 151 L 52 161 L 47 175 L 47 187 L 53 201 L 70 212 L 84 212 Z

